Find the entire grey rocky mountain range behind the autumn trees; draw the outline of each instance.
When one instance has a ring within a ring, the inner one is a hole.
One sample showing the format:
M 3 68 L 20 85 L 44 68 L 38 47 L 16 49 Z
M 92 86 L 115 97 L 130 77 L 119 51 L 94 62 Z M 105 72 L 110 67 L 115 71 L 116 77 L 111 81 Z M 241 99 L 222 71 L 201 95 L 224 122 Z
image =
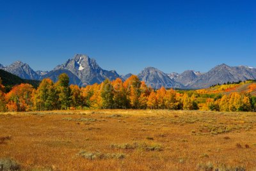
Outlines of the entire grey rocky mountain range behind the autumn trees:
M 51 78 L 54 82 L 58 80 L 58 75 L 67 73 L 70 78 L 70 84 L 80 86 L 100 83 L 106 78 L 109 78 L 109 80 L 115 80 L 116 78 L 126 80 L 132 75 L 131 73 L 118 75 L 115 70 L 104 70 L 100 68 L 95 59 L 83 54 L 76 54 L 65 63 L 56 66 L 52 71 L 34 71 L 28 64 L 21 61 L 16 61 L 9 66 L 0 64 L 0 69 L 24 79 L 42 80 L 44 78 Z M 138 77 L 145 84 L 155 89 L 162 86 L 166 88 L 200 89 L 218 83 L 256 80 L 256 68 L 220 64 L 206 73 L 187 70 L 180 74 L 174 72 L 168 74 L 157 68 L 147 67 L 138 74 Z

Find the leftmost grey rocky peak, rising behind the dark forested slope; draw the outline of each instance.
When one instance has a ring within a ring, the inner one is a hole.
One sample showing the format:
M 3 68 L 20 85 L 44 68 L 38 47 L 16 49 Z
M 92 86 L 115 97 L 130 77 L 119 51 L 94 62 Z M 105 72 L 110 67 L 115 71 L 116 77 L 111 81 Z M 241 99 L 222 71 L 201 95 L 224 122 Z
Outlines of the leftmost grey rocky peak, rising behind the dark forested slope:
M 23 79 L 29 80 L 38 80 L 39 75 L 30 68 L 30 66 L 26 63 L 22 63 L 21 61 L 16 61 L 15 63 L 10 64 L 3 68 L 3 70 L 8 71 L 14 75 L 19 76 Z

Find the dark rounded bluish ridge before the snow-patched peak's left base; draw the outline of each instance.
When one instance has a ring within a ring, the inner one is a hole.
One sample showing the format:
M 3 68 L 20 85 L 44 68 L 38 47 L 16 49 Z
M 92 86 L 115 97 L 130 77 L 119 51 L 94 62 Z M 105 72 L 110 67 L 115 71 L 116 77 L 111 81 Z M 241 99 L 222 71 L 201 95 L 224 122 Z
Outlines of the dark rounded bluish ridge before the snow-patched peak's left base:
M 52 70 L 49 73 L 42 75 L 40 77 L 40 80 L 42 80 L 44 78 L 51 78 L 51 80 L 53 82 L 57 82 L 58 77 L 59 77 L 59 75 L 61 75 L 61 73 L 67 73 L 67 75 L 69 77 L 69 84 L 76 84 L 76 85 L 82 86 L 81 80 L 76 75 L 74 75 L 74 73 L 72 73 L 71 71 L 68 71 L 68 70 Z

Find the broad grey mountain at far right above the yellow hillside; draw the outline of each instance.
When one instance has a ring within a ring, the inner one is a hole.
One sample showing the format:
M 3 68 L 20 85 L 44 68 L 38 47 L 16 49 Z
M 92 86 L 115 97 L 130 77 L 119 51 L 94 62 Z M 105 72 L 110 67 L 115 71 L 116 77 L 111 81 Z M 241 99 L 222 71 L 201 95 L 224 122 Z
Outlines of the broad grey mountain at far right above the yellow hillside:
M 193 82 L 188 84 L 188 87 L 200 89 L 210 87 L 214 84 L 224 84 L 225 82 L 237 82 L 239 80 L 255 80 L 256 69 L 247 66 L 228 66 L 220 64 L 212 70 L 199 75 Z

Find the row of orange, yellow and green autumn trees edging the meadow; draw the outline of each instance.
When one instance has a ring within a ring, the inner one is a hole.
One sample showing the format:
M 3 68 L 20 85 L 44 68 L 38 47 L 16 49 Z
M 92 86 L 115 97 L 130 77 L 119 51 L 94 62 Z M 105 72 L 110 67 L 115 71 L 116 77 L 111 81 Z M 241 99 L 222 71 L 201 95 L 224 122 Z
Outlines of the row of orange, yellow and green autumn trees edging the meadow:
M 63 73 L 58 82 L 42 80 L 37 89 L 30 84 L 20 84 L 4 93 L 0 83 L 0 111 L 60 110 L 82 108 L 150 108 L 172 110 L 198 110 L 195 94 L 178 93 L 164 87 L 154 90 L 147 87 L 138 77 L 132 75 L 123 82 L 120 78 L 101 84 L 79 87 L 68 85 L 69 78 Z M 238 98 L 239 96 L 239 98 Z M 236 102 L 235 102 L 236 101 Z M 237 102 L 239 101 L 239 102 Z M 246 95 L 223 96 L 221 99 L 207 99 L 210 110 L 249 111 L 250 99 Z M 227 107 L 228 104 L 228 107 Z

